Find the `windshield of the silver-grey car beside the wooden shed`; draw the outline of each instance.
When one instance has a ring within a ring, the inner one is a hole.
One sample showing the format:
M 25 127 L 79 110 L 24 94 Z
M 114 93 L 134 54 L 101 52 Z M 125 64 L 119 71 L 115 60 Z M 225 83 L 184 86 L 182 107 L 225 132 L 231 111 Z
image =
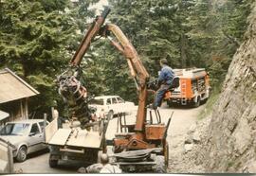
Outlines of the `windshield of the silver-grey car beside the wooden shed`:
M 27 132 L 27 123 L 9 123 L 0 132 L 1 135 L 23 135 Z

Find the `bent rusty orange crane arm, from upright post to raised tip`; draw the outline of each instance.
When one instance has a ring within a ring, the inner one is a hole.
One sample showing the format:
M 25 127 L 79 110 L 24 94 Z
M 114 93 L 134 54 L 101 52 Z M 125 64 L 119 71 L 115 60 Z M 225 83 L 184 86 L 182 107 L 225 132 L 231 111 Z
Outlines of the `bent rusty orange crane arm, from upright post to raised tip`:
M 109 12 L 110 9 L 104 9 L 101 16 L 98 16 L 94 20 L 92 25 L 87 30 L 82 43 L 80 44 L 70 63 L 72 66 L 79 66 L 82 62 L 83 55 L 88 50 L 94 38 L 97 35 L 100 35 L 110 39 L 108 34 L 112 33 L 117 38 L 118 42 L 110 39 L 111 43 L 124 55 L 129 65 L 131 76 L 136 80 L 138 91 L 138 108 L 135 131 L 142 132 L 144 130 L 144 123 L 146 120 L 145 107 L 147 100 L 147 80 L 149 79 L 149 74 L 140 61 L 135 47 L 129 42 L 127 37 L 120 30 L 119 26 L 113 24 L 107 24 L 103 26 L 105 18 Z

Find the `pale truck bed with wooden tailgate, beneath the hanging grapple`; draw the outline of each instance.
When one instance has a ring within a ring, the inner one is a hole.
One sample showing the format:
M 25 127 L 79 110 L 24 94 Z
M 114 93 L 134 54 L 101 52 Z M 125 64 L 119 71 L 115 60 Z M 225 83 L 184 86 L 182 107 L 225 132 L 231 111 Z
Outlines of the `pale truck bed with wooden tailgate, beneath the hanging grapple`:
M 101 119 L 91 124 L 90 128 L 64 128 L 58 129 L 58 119 L 54 119 L 46 126 L 46 144 L 50 149 L 49 166 L 57 167 L 60 160 L 82 161 L 84 166 L 99 162 L 99 153 L 106 150 L 105 131 L 107 119 Z

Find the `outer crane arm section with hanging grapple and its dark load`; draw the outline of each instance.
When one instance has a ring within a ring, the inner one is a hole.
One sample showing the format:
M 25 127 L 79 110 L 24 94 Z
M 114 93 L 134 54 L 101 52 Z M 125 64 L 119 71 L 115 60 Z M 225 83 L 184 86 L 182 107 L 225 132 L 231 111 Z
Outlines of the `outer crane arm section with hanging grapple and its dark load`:
M 76 68 L 76 70 L 74 70 L 72 67 L 80 66 L 83 55 L 88 50 L 95 36 L 98 35 L 109 11 L 110 9 L 105 9 L 101 16 L 98 16 L 94 20 L 87 30 L 74 57 L 70 61 L 71 69 L 69 68 L 64 71 L 56 80 L 58 92 L 64 98 L 64 102 L 68 106 L 69 118 L 77 118 L 81 122 L 82 129 L 90 122 L 95 110 L 88 106 L 91 97 L 87 96 L 87 90 L 79 80 L 79 69 Z M 70 70 L 71 72 L 69 72 Z

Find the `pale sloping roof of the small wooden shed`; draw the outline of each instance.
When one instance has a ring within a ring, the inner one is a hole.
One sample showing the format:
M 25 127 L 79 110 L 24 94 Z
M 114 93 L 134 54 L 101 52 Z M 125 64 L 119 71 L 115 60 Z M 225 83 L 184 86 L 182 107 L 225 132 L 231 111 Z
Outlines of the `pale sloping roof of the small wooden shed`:
M 38 94 L 37 90 L 15 75 L 9 68 L 0 70 L 0 103 Z

